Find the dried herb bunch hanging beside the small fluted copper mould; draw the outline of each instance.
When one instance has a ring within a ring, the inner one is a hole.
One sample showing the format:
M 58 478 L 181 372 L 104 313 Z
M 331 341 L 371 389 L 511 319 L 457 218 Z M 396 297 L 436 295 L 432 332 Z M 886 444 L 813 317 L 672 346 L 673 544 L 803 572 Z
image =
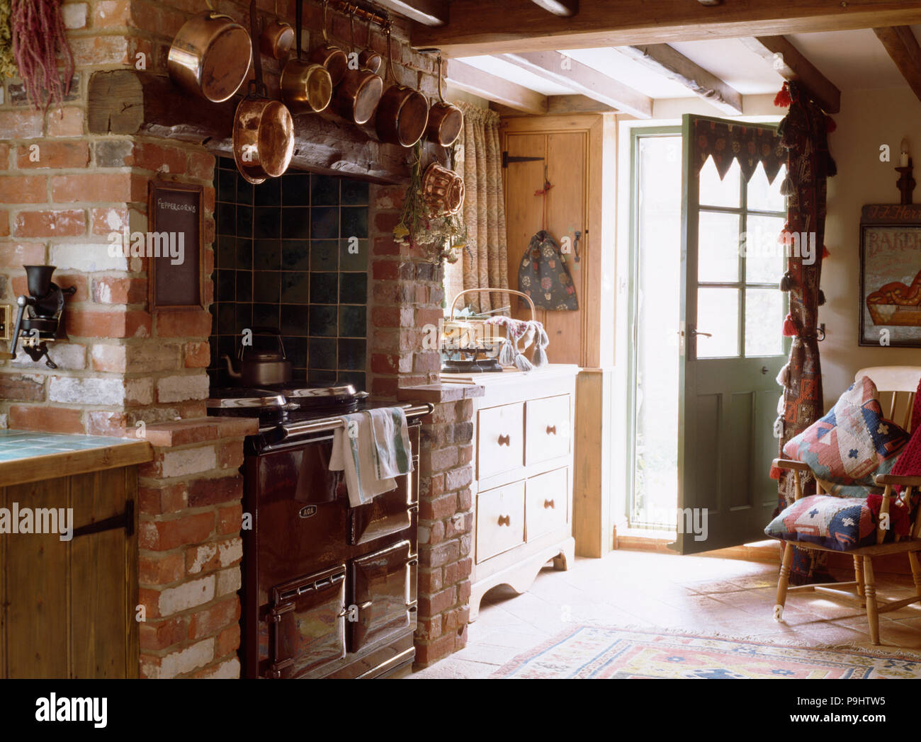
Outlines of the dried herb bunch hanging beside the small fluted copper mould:
M 457 262 L 467 239 L 463 216 L 432 214 L 422 191 L 421 142 L 415 145 L 414 154 L 409 188 L 403 200 L 400 223 L 393 229 L 393 238 L 399 244 L 424 249 L 432 262 Z

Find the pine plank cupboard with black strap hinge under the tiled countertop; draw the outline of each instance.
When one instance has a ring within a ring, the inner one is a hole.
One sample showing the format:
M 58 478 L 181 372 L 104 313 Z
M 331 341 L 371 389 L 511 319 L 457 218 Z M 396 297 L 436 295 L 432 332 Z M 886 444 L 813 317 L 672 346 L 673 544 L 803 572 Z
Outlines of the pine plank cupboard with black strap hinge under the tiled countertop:
M 135 464 L 0 487 L 0 507 L 73 508 L 75 528 L 0 535 L 0 678 L 137 677 L 136 496 Z

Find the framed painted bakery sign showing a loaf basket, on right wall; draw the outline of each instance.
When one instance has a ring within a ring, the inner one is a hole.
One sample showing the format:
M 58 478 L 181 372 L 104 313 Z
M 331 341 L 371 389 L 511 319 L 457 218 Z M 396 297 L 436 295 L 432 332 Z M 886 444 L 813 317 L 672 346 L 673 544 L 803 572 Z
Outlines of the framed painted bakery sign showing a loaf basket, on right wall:
M 860 344 L 921 347 L 921 205 L 864 206 Z

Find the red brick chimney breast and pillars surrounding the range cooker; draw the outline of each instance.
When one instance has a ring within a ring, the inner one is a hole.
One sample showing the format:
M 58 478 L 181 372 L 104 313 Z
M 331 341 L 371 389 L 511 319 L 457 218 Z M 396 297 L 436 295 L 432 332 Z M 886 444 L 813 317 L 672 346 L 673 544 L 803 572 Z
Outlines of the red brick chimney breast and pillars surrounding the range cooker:
M 295 0 L 260 8 L 294 20 Z M 239 20 L 247 3 L 218 0 Z M 163 73 L 182 22 L 201 0 L 64 2 L 76 60 L 75 87 L 62 110 L 31 109 L 17 80 L 0 100 L 0 302 L 25 290 L 22 264 L 56 264 L 68 300 L 67 342 L 52 344 L 58 369 L 20 357 L 0 366 L 0 424 L 47 431 L 121 435 L 147 423 L 156 458 L 140 472 L 142 675 L 234 676 L 239 643 L 239 474 L 243 433 L 204 415 L 210 315 L 147 311 L 146 261 L 108 255 L 111 231 L 146 231 L 150 180 L 204 186 L 204 274 L 214 265 L 214 158 L 203 147 L 153 138 L 88 135 L 87 81 L 94 71 L 138 60 Z M 307 5 L 310 42 L 320 38 L 320 9 Z M 331 14 L 332 39 L 347 45 L 344 17 Z M 434 94 L 435 60 L 405 43 L 395 24 L 396 76 Z M 356 38 L 365 41 L 359 24 Z M 386 52 L 375 32 L 373 45 Z M 139 57 L 138 54 L 145 56 Z M 264 60 L 271 81 L 278 64 Z M 206 105 L 203 102 L 203 105 Z M 30 145 L 39 145 L 32 162 Z M 402 189 L 376 189 L 372 207 L 368 365 L 371 390 L 395 399 L 399 388 L 437 381 L 435 351 L 422 351 L 423 328 L 437 322 L 440 269 L 392 242 Z M 214 286 L 204 285 L 204 302 Z M 423 392 L 409 392 L 413 398 Z M 428 391 L 433 400 L 441 393 Z M 2 416 L 6 416 L 6 420 Z M 418 661 L 430 664 L 466 641 L 470 595 L 472 449 L 464 435 L 469 402 L 446 401 L 426 421 L 422 453 Z M 179 428 L 169 423 L 186 421 Z M 157 424 L 159 423 L 159 424 Z M 456 451 L 456 458 L 455 453 Z

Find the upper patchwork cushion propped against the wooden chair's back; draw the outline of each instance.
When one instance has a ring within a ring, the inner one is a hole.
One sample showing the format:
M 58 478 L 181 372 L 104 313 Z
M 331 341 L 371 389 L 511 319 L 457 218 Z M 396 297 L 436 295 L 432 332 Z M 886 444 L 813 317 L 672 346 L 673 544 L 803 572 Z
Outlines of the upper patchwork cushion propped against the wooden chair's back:
M 873 478 L 888 474 L 908 433 L 887 420 L 869 377 L 860 377 L 831 412 L 791 438 L 784 456 L 808 464 L 829 493 L 866 497 L 880 493 Z

